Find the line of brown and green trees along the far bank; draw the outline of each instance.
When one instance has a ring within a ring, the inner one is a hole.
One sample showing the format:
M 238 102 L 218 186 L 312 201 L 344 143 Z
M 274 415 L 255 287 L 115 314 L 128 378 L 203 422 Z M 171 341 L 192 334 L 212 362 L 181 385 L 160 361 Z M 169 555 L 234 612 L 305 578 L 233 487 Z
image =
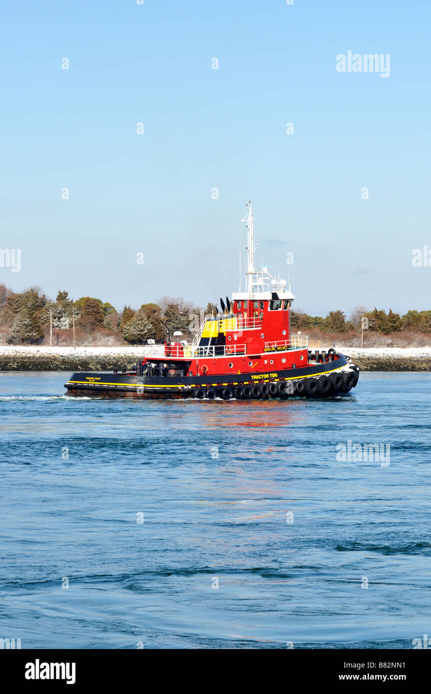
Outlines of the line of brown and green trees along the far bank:
M 185 339 L 192 337 L 205 315 L 215 314 L 216 306 L 208 303 L 205 310 L 182 297 L 162 296 L 158 303 L 144 303 L 139 309 L 125 305 L 117 311 L 112 304 L 92 296 L 81 296 L 73 301 L 67 291 L 58 291 L 56 300 L 48 298 L 38 287 L 15 292 L 0 284 L 0 330 L 8 344 L 37 344 L 50 326 L 54 330 L 67 330 L 75 321 L 87 339 L 97 332 L 115 334 L 130 344 L 143 344 L 149 339 L 156 343 L 165 339 L 162 321 L 171 337 L 179 330 Z M 346 317 L 341 310 L 328 315 L 310 316 L 302 311 L 291 312 L 291 328 L 319 332 L 357 332 L 364 327 L 387 335 L 390 332 L 431 332 L 431 311 L 409 310 L 403 316 L 393 312 L 366 310 L 357 306 Z

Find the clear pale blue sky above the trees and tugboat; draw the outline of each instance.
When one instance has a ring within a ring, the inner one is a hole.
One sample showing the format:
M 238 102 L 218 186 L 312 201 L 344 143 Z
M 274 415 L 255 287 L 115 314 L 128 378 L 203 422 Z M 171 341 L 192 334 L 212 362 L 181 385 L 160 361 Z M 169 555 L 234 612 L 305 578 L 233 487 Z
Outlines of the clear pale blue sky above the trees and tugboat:
M 258 264 L 289 271 L 297 308 L 431 308 L 431 267 L 412 266 L 431 248 L 428 1 L 4 1 L 1 15 L 0 246 L 22 269 L 0 282 L 206 305 L 237 290 L 251 199 Z M 349 50 L 389 54 L 390 76 L 337 72 Z

